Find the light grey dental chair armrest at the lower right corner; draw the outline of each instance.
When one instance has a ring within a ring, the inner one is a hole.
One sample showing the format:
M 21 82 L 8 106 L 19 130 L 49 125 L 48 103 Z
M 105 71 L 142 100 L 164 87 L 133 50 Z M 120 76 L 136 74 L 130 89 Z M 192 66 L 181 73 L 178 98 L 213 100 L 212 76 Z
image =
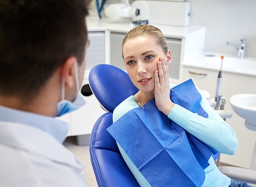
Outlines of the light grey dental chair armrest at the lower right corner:
M 241 167 L 219 166 L 218 169 L 224 175 L 235 181 L 256 184 L 256 171 Z

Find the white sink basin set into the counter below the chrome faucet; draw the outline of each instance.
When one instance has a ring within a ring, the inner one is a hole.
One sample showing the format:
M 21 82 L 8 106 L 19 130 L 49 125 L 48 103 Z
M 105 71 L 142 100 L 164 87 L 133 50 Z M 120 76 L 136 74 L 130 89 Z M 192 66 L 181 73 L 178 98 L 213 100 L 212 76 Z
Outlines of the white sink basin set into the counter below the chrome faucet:
M 205 57 L 204 61 L 209 65 L 221 67 L 221 57 Z M 256 71 L 256 60 L 224 57 L 222 68 L 236 69 L 236 71 L 242 71 L 243 69 Z

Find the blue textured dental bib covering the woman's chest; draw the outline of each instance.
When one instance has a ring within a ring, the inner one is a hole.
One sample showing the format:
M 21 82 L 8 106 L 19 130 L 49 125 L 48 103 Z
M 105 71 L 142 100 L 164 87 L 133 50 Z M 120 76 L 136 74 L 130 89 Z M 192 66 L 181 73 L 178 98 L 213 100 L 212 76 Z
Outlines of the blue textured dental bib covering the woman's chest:
M 200 105 L 201 95 L 191 79 L 172 90 L 172 102 L 208 117 Z M 154 99 L 144 108 L 128 111 L 108 127 L 108 132 L 152 187 L 201 187 L 205 179 L 204 169 L 217 151 L 160 112 Z

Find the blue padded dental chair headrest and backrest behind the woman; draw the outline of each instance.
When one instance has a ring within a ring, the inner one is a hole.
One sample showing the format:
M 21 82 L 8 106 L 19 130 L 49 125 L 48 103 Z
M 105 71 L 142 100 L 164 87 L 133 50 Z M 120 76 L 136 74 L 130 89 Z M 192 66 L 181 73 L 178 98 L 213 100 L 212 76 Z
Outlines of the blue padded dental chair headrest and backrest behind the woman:
M 96 121 L 90 136 L 90 159 L 99 187 L 139 187 L 119 152 L 115 139 L 106 130 L 112 125 L 113 110 L 127 97 L 137 93 L 128 74 L 113 66 L 92 68 L 89 84 L 102 108 L 109 111 Z

